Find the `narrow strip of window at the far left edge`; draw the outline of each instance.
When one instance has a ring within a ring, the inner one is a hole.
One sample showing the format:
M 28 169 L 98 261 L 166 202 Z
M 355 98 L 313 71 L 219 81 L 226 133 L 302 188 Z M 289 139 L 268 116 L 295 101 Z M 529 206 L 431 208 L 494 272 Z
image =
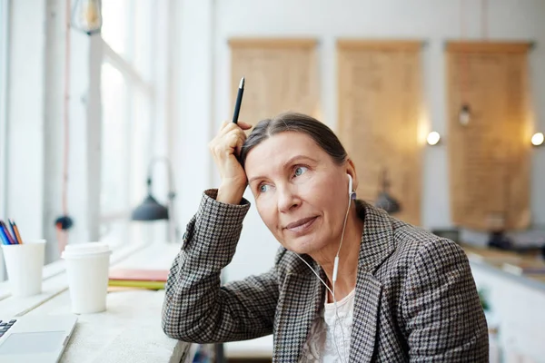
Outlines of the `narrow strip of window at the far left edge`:
M 8 0 L 0 0 L 0 216 L 5 215 Z M 1 277 L 1 276 L 0 276 Z M 1 279 L 0 279 L 1 280 Z

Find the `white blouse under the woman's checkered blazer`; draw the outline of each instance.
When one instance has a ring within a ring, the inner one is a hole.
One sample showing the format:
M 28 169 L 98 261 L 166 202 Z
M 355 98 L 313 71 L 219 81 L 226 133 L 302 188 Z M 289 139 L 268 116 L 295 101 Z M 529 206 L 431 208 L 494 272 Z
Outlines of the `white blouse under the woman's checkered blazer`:
M 354 311 L 355 289 L 335 304 L 325 303 L 320 314 L 312 321 L 309 338 L 302 346 L 300 363 L 347 363 L 350 356 L 350 336 Z M 327 299 L 326 299 L 327 301 Z M 335 324 L 336 322 L 336 324 Z M 335 346 L 335 342 L 337 343 Z M 337 351 L 337 348 L 339 349 Z M 341 355 L 342 359 L 339 357 Z

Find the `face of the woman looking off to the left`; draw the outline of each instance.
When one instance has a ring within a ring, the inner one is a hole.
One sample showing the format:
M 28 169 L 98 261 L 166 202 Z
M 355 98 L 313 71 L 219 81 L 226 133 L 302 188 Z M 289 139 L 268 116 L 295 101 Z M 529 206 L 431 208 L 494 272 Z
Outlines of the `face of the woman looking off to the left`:
M 338 165 L 302 132 L 281 132 L 248 153 L 257 211 L 283 247 L 312 254 L 341 240 L 352 162 Z

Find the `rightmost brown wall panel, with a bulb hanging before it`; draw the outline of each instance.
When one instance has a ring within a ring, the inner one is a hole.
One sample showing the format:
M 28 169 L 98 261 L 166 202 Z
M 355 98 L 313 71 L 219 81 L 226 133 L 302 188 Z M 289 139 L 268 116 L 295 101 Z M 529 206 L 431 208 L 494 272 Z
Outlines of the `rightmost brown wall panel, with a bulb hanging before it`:
M 490 231 L 530 223 L 529 44 L 446 48 L 448 152 L 454 224 Z M 460 122 L 467 103 L 471 119 Z

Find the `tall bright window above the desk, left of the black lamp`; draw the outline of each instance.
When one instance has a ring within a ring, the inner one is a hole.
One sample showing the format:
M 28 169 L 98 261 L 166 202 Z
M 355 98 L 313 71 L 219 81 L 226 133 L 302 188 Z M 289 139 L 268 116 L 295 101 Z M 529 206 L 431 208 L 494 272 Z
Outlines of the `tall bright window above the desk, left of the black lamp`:
M 156 5 L 153 0 L 102 5 L 101 240 L 134 242 L 150 232 L 132 223 L 130 213 L 144 200 L 154 151 Z

